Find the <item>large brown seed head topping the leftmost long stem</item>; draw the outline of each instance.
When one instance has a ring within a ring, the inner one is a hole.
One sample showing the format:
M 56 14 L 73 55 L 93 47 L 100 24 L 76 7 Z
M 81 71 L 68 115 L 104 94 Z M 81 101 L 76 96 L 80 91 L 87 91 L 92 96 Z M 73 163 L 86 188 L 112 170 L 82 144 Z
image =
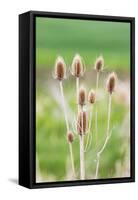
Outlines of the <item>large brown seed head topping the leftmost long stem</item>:
M 55 78 L 62 81 L 66 75 L 66 64 L 62 57 L 57 57 L 55 62 Z

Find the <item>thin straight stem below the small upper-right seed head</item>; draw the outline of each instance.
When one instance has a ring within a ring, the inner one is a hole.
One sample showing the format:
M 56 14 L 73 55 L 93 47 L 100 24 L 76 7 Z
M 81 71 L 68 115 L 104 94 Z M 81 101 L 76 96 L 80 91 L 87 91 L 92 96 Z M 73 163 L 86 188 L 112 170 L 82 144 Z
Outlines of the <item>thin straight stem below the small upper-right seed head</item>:
M 99 75 L 100 72 L 97 72 L 97 76 L 96 76 L 96 99 L 98 96 L 98 87 L 99 87 Z M 97 146 L 97 141 L 98 141 L 98 108 L 97 108 L 97 100 L 95 102 L 95 137 L 96 137 L 96 146 Z

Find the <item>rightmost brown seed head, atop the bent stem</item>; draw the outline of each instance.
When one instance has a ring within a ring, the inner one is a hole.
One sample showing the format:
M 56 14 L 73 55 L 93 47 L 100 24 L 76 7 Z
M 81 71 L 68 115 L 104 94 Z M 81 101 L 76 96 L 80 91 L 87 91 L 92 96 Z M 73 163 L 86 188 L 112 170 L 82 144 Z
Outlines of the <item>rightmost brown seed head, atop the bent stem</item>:
M 107 79 L 107 91 L 112 94 L 115 91 L 117 75 L 112 72 Z

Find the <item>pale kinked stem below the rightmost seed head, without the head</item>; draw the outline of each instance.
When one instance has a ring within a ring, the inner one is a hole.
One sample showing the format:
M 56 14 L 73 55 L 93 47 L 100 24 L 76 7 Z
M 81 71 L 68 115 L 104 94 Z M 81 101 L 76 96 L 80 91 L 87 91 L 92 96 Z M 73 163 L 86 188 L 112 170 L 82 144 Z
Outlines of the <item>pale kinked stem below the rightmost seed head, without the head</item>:
M 111 118 L 111 103 L 112 103 L 112 95 L 109 94 L 109 103 L 108 103 L 108 119 L 107 119 L 107 131 L 106 131 L 106 139 L 105 139 L 105 142 L 101 148 L 101 150 L 97 153 L 97 163 L 96 163 L 96 173 L 95 173 L 95 179 L 98 178 L 98 171 L 99 171 L 99 164 L 100 164 L 100 157 L 101 157 L 101 154 L 102 152 L 104 151 L 107 143 L 108 143 L 108 140 L 110 138 L 110 118 Z

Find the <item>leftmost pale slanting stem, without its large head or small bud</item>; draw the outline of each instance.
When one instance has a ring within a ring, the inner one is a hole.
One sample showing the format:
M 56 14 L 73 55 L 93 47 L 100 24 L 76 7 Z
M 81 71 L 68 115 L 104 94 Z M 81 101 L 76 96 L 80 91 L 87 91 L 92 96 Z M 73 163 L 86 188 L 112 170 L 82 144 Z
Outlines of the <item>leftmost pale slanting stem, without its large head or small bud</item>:
M 59 81 L 59 84 L 60 84 L 60 92 L 61 92 L 61 96 L 62 96 L 62 103 L 63 103 L 63 110 L 64 110 L 66 128 L 67 128 L 67 133 L 68 133 L 69 132 L 69 122 L 68 122 L 67 111 L 66 111 L 66 106 L 65 106 L 65 96 L 64 96 L 62 81 Z M 72 144 L 71 143 L 69 143 L 69 151 L 70 151 L 70 159 L 71 159 L 71 165 L 72 165 L 73 175 L 74 175 L 74 177 L 76 177 L 76 175 L 75 175 L 73 150 L 72 150 Z

